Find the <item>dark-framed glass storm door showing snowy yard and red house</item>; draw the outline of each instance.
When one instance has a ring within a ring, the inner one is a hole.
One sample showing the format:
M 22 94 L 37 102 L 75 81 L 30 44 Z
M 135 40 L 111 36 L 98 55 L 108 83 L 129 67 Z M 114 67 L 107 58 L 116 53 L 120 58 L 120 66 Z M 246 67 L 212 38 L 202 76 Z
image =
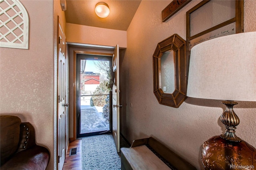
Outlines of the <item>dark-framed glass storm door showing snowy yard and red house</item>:
M 109 133 L 112 55 L 77 54 L 76 57 L 76 136 Z

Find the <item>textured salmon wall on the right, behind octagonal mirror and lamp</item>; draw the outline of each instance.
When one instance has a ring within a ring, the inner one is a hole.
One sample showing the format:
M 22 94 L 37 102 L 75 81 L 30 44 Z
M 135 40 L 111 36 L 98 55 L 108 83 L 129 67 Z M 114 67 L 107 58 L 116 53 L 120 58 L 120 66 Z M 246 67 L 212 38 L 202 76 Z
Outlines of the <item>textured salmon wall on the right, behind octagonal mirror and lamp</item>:
M 127 30 L 127 49 L 120 59 L 120 114 L 121 132 L 129 142 L 153 136 L 196 168 L 203 169 L 202 144 L 224 132 L 220 115 L 225 106 L 219 100 L 190 97 L 178 109 L 160 105 L 153 93 L 152 69 L 152 55 L 158 42 L 173 34 L 186 40 L 186 11 L 199 2 L 193 0 L 166 22 L 161 20 L 161 11 L 170 1 L 141 2 Z M 245 32 L 256 31 L 255 4 L 256 1 L 245 1 Z M 240 118 L 237 136 L 256 147 L 256 102 L 238 102 L 234 111 Z

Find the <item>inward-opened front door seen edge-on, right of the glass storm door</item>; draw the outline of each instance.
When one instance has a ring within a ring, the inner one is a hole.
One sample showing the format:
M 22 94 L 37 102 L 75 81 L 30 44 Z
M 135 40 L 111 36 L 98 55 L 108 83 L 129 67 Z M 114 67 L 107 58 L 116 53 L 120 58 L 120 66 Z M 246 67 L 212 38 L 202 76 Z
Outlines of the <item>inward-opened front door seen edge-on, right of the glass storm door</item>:
M 112 134 L 116 144 L 117 152 L 120 152 L 120 105 L 119 103 L 119 45 L 116 45 L 112 58 L 114 71 L 114 85 L 112 87 Z

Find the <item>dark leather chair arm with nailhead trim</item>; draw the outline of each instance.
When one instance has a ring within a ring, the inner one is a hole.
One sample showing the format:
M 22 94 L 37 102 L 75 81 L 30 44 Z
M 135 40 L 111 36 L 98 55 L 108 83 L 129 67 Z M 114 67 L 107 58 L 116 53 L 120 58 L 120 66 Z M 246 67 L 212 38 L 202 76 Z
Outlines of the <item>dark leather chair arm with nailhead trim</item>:
M 26 122 L 20 124 L 20 141 L 18 144 L 18 151 L 31 148 L 36 145 L 35 130 L 34 127 Z

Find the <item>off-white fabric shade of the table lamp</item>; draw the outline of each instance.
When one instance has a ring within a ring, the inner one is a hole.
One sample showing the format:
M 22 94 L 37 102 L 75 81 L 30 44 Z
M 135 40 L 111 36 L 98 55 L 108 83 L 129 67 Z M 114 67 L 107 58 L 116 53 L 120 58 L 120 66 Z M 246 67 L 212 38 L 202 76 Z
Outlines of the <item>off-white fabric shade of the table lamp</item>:
M 256 32 L 222 36 L 192 47 L 187 96 L 256 101 Z

